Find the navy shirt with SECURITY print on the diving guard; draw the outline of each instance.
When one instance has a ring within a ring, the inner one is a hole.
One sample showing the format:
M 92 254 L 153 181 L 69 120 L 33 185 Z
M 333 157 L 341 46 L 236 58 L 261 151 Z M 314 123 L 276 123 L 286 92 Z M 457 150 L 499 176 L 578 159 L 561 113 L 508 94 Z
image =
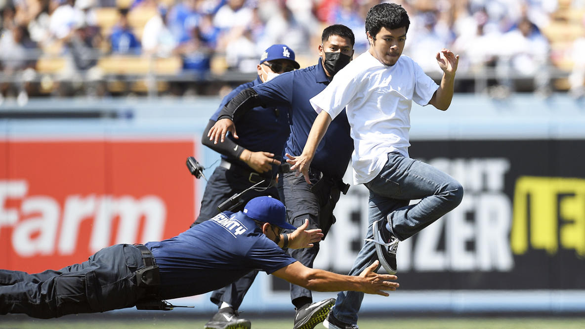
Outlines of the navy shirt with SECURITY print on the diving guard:
M 211 292 L 250 270 L 270 274 L 297 261 L 241 211 L 226 211 L 174 238 L 146 246 L 159 265 L 162 299 Z

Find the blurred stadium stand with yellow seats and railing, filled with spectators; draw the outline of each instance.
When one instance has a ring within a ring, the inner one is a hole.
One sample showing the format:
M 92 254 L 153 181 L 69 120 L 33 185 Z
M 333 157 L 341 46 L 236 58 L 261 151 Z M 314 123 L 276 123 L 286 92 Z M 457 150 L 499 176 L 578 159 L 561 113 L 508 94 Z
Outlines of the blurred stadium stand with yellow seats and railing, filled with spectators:
M 429 57 L 431 50 L 414 46 L 415 40 L 416 44 L 425 44 L 428 36 L 437 36 L 436 40 L 455 47 L 461 54 L 458 92 L 487 92 L 502 97 L 514 91 L 548 94 L 579 87 L 580 73 L 574 71 L 580 70 L 580 64 L 574 63 L 573 49 L 585 37 L 583 1 L 396 2 L 405 6 L 412 22 L 405 54 L 417 59 Z M 3 1 L 0 2 L 0 95 L 2 99 L 20 92 L 30 97 L 83 95 L 88 91 L 84 84 L 95 81 L 105 85 L 98 95 L 182 95 L 194 90 L 216 94 L 219 88 L 193 86 L 211 80 L 225 85 L 250 80 L 255 66 L 247 59 L 260 56 L 261 50 L 271 43 L 292 43 L 294 46 L 289 45 L 297 53 L 301 67 L 314 64 L 321 30 L 332 23 L 350 26 L 357 37 L 356 54 L 363 52 L 367 49 L 361 30 L 363 18 L 367 9 L 377 3 L 366 0 Z M 128 10 L 132 33 L 143 43 L 148 42 L 139 53 L 121 56 L 112 52 L 108 40 L 119 24 L 121 8 Z M 245 26 L 239 26 L 238 19 L 227 25 L 218 23 L 215 16 L 220 11 L 222 17 L 246 16 L 241 20 Z M 524 36 L 518 32 L 522 20 L 533 26 L 531 32 L 522 32 Z M 68 23 L 59 25 L 59 21 Z M 147 24 L 151 26 L 144 36 Z M 25 29 L 22 36 L 16 31 L 18 27 Z M 470 34 L 479 28 L 481 34 Z M 277 33 L 281 30 L 291 33 Z M 306 31 L 311 35 L 303 37 Z M 488 36 L 496 37 L 491 40 L 497 40 L 498 44 L 492 44 L 491 49 L 473 47 L 474 40 L 481 37 L 490 40 Z M 514 47 L 505 43 L 507 37 L 519 38 L 516 40 L 533 46 L 511 50 Z M 504 43 L 499 43 L 500 40 Z M 185 44 L 189 46 L 184 47 Z M 543 59 L 532 51 L 539 49 L 534 44 L 542 46 Z M 501 47 L 508 49 L 498 49 Z M 238 49 L 236 57 L 234 49 Z M 478 52 L 480 60 L 475 58 Z M 569 79 L 572 73 L 573 83 Z M 429 69 L 429 74 L 435 73 Z M 28 84 L 25 86 L 23 81 Z M 170 88 L 173 84 L 181 88 Z M 70 87 L 63 88 L 63 85 Z M 503 87 L 507 92 L 492 92 Z

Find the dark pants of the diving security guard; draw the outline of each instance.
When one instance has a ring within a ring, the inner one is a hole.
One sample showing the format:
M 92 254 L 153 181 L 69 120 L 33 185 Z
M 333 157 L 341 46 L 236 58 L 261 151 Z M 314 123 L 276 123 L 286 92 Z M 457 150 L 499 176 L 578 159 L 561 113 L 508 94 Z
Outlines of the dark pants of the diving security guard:
M 0 314 L 53 318 L 133 307 L 144 297 L 134 274 L 142 266 L 139 249 L 121 244 L 60 270 L 0 270 Z

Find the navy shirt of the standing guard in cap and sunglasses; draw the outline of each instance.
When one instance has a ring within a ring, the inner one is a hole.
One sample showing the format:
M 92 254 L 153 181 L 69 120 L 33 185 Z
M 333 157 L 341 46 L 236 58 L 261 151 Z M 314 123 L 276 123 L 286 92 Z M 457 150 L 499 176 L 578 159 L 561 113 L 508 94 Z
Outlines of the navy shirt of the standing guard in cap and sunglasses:
M 216 121 L 221 109 L 233 97 L 238 95 L 240 91 L 260 84 L 262 84 L 262 81 L 260 77 L 257 77 L 256 80 L 241 84 L 232 90 L 226 97 L 223 97 L 219 108 L 211 116 L 211 120 Z M 229 134 L 228 138 L 233 140 L 234 143 L 253 152 L 263 151 L 274 153 L 278 160 L 284 155 L 284 143 L 290 132 L 288 128 L 287 105 L 283 104 L 278 107 L 271 106 L 266 108 L 255 107 L 247 111 L 245 115 L 240 116 L 238 121 L 234 123 L 236 125 L 236 132 L 238 132 L 238 136 L 240 137 L 239 139 L 235 139 Z M 222 155 L 222 157 L 229 159 L 225 155 Z M 238 162 L 238 165 L 248 167 L 243 162 Z M 276 170 L 274 170 L 274 175 L 276 176 Z

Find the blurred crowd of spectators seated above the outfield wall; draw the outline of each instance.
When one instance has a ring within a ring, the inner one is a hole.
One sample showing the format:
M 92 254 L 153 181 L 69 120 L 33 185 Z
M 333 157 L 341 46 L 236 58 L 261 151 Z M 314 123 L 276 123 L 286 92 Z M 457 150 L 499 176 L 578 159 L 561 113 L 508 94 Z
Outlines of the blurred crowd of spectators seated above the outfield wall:
M 0 0 L 0 101 L 7 96 L 26 101 L 42 90 L 71 95 L 80 91 L 78 85 L 84 85 L 81 92 L 108 94 L 104 81 L 112 79 L 112 72 L 103 60 L 112 56 L 176 58 L 178 70 L 167 79 L 181 77 L 184 85 L 218 74 L 229 80 L 229 73 L 253 73 L 261 53 L 275 43 L 290 46 L 305 67 L 316 63 L 322 29 L 334 23 L 353 30 L 360 54 L 368 47 L 366 13 L 380 2 Z M 534 81 L 533 91 L 546 94 L 552 90 L 552 68 L 568 58 L 566 89 L 583 95 L 585 0 L 392 2 L 404 6 L 411 18 L 404 53 L 429 74 L 440 73 L 435 53 L 449 47 L 460 54 L 460 76 L 486 74 L 503 91 L 513 91 L 513 81 L 527 77 Z M 562 6 L 581 12 L 581 30 L 556 47 L 558 33 L 549 26 Z

